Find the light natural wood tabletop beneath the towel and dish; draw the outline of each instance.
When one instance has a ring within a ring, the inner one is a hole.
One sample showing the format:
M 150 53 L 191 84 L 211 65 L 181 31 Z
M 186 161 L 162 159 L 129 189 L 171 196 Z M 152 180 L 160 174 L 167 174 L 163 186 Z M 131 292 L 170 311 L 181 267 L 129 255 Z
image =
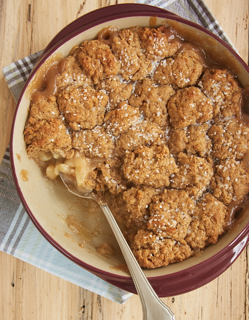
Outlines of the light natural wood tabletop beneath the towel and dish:
M 3 0 L 0 8 L 1 69 L 41 50 L 65 25 L 93 9 L 129 0 Z M 206 0 L 224 31 L 248 63 L 249 0 Z M 0 156 L 9 142 L 15 103 L 0 78 Z M 248 249 L 211 283 L 162 300 L 177 320 L 248 320 Z M 124 305 L 0 253 L 0 319 L 142 319 L 138 296 Z M 156 319 L 155 319 L 156 320 Z

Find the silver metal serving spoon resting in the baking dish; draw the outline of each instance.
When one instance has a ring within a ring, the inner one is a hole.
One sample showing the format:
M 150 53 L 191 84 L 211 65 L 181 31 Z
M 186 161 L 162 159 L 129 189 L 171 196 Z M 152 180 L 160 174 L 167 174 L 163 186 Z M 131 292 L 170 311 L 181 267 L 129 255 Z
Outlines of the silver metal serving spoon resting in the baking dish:
M 143 320 L 175 320 L 175 316 L 158 297 L 143 273 L 140 265 L 138 264 L 136 258 L 134 257 L 129 245 L 127 244 L 113 214 L 111 213 L 108 204 L 106 203 L 104 196 L 100 198 L 94 191 L 90 192 L 79 192 L 71 182 L 67 180 L 62 172 L 60 172 L 61 180 L 67 189 L 83 198 L 94 199 L 101 207 L 104 212 L 112 231 L 117 239 L 120 249 L 124 255 L 124 259 L 130 270 L 133 282 L 138 292 L 138 296 L 141 301 L 143 310 Z

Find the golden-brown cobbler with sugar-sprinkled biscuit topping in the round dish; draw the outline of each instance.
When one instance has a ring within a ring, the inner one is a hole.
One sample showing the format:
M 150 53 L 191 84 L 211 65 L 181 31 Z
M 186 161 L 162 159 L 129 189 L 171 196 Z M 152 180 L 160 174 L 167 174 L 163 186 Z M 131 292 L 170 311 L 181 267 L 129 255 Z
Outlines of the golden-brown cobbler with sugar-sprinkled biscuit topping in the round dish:
M 108 190 L 141 267 L 198 255 L 233 227 L 248 201 L 249 127 L 232 70 L 165 24 L 105 28 L 44 72 L 27 155 L 47 179 Z

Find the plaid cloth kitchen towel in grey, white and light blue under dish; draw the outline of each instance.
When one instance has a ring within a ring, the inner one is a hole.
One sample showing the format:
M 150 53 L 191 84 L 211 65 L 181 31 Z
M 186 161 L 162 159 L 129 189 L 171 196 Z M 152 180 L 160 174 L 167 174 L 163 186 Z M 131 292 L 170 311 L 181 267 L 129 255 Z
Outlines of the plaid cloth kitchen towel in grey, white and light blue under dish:
M 192 20 L 220 36 L 235 49 L 201 0 L 138 0 L 137 3 L 158 6 Z M 4 78 L 16 102 L 41 52 L 3 68 Z M 15 190 L 9 148 L 0 165 L 0 250 L 118 303 L 124 303 L 132 295 L 80 268 L 41 236 L 23 209 Z

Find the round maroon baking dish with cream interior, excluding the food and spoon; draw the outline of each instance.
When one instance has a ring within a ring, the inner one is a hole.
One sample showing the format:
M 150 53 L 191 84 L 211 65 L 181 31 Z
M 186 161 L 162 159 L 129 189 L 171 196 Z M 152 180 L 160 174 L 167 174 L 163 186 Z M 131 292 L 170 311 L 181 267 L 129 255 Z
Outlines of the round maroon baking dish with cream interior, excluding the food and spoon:
M 95 203 L 70 194 L 59 181 L 50 182 L 44 178 L 34 160 L 26 155 L 23 132 L 30 102 L 26 98 L 27 86 L 51 54 L 59 51 L 63 56 L 67 56 L 75 44 L 96 38 L 98 31 L 109 25 L 116 25 L 121 29 L 133 25 L 151 26 L 151 17 L 154 17 L 155 27 L 162 25 L 165 19 L 171 19 L 189 30 L 194 30 L 204 39 L 211 37 L 218 52 L 222 55 L 228 54 L 236 61 L 237 75 L 242 86 L 249 84 L 249 68 L 246 63 L 230 46 L 205 28 L 153 6 L 112 5 L 89 12 L 73 21 L 48 44 L 22 90 L 11 132 L 13 178 L 20 200 L 36 228 L 67 258 L 110 284 L 133 293 L 136 293 L 136 290 L 129 273 L 125 268 L 117 267 L 124 264 L 121 253 L 106 258 L 96 252 L 96 245 L 99 243 L 116 241 L 102 212 Z M 28 181 L 23 179 L 24 172 Z M 94 210 L 97 212 L 95 215 L 92 214 Z M 72 213 L 77 220 L 86 222 L 87 229 L 92 228 L 98 235 L 87 238 L 73 232 L 67 220 Z M 207 284 L 229 268 L 244 250 L 248 237 L 249 216 L 241 221 L 235 231 L 227 232 L 216 244 L 205 248 L 201 255 L 165 267 L 146 269 L 145 275 L 160 297 L 189 292 Z

